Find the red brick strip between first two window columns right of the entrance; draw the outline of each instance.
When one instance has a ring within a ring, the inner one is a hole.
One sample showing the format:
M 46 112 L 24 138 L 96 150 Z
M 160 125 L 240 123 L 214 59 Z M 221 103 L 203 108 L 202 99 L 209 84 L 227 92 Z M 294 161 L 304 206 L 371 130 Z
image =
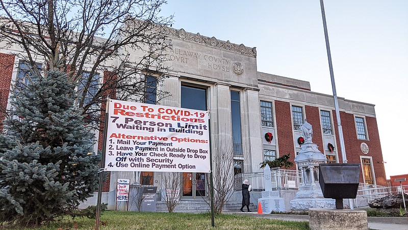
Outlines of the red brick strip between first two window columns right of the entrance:
M 291 107 L 289 102 L 275 101 L 276 132 L 279 142 L 279 156 L 290 154 L 289 160 L 295 162 L 294 141 L 292 133 Z M 296 169 L 296 165 L 289 169 Z

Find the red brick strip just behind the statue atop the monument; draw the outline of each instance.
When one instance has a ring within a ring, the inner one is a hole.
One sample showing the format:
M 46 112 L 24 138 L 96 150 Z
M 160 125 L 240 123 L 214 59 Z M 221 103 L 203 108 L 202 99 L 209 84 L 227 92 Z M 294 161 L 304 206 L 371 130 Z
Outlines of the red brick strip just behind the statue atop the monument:
M 315 106 L 304 106 L 306 119 L 309 124 L 313 127 L 313 136 L 312 141 L 313 143 L 317 144 L 319 147 L 320 152 L 324 154 L 324 146 L 323 146 L 323 139 L 322 139 L 322 128 L 320 125 L 320 112 L 319 108 Z

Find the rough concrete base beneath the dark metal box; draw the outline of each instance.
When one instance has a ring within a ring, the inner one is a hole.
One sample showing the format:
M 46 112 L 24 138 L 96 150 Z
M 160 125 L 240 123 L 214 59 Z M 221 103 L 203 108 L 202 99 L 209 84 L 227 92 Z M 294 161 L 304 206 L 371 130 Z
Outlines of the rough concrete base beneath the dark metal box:
M 344 209 L 309 209 L 309 228 L 314 229 L 368 229 L 367 212 Z

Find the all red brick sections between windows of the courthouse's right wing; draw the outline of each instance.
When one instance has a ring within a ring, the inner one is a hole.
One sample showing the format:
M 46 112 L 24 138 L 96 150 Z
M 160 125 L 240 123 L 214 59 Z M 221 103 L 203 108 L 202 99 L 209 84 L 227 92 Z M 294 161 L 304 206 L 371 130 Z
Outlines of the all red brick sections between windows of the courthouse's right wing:
M 336 120 L 336 112 L 332 110 L 334 129 L 336 130 L 336 140 L 338 147 L 339 162 L 342 163 L 340 139 L 338 133 L 338 124 Z M 294 140 L 292 134 L 291 107 L 289 102 L 275 101 L 276 114 L 276 132 L 279 143 L 279 156 L 290 153 L 290 160 L 294 162 Z M 305 114 L 307 121 L 313 126 L 313 142 L 319 146 L 319 150 L 323 153 L 324 146 L 322 140 L 322 131 L 320 124 L 319 108 L 315 106 L 305 105 Z M 375 172 L 375 180 L 377 185 L 387 186 L 386 173 L 384 169 L 381 145 L 379 141 L 378 127 L 376 119 L 373 117 L 365 117 L 367 124 L 367 133 L 369 140 L 358 140 L 355 130 L 354 116 L 351 113 L 344 111 L 340 112 L 340 118 L 343 128 L 344 144 L 348 163 L 361 164 L 360 156 L 371 156 L 372 164 Z M 361 143 L 366 143 L 369 147 L 368 154 L 361 151 Z M 378 163 L 379 162 L 379 163 Z M 293 166 L 291 169 L 295 169 Z M 363 182 L 363 173 L 360 171 L 360 182 Z

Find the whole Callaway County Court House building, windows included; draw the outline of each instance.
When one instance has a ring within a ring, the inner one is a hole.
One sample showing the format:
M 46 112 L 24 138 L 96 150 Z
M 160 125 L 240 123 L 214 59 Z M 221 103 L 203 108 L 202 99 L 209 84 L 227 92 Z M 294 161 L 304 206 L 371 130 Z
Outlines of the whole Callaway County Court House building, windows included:
M 172 44 L 166 52 L 171 70 L 169 78 L 158 87 L 171 96 L 160 104 L 210 110 L 211 137 L 232 142 L 235 174 L 262 172 L 260 163 L 264 159 L 285 154 L 294 162 L 299 152 L 299 128 L 306 120 L 312 124 L 313 142 L 327 162 L 342 163 L 333 96 L 311 91 L 308 81 L 258 72 L 255 48 L 183 29 L 166 30 Z M 19 51 L 13 49 L 0 49 L 2 120 L 11 84 L 19 79 L 19 68 L 24 67 L 14 55 Z M 139 54 L 130 55 L 136 58 Z M 387 186 L 374 105 L 338 100 L 348 163 L 361 164 L 360 182 Z M 100 149 L 102 135 L 98 136 Z M 296 169 L 296 165 L 290 169 Z M 191 182 L 183 183 L 188 188 L 183 188 L 182 199 L 201 199 L 196 196 L 197 191 L 206 187 L 198 186 L 197 180 L 206 177 L 203 173 L 183 174 Z M 159 173 L 137 175 L 111 172 L 104 185 L 103 202 L 115 205 L 117 178 L 160 187 Z

